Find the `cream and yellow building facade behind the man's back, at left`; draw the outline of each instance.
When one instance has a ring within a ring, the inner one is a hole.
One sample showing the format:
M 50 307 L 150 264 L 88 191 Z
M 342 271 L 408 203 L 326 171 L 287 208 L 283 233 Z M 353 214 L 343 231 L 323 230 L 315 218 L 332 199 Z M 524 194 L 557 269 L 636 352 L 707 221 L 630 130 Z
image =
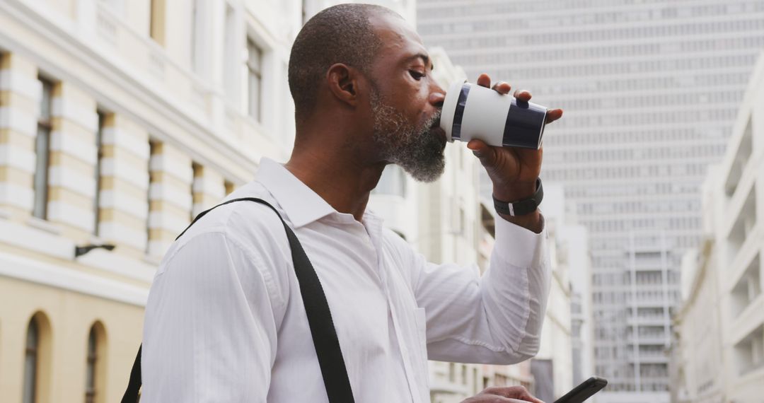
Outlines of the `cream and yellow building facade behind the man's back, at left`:
M 301 3 L 0 2 L 3 401 L 121 398 L 164 250 L 288 155 Z

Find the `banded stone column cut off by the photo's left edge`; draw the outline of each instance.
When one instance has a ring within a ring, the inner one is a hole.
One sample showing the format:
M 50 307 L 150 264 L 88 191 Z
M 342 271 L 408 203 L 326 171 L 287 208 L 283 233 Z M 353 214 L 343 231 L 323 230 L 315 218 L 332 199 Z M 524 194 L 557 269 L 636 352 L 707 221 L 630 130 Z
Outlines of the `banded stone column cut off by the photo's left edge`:
M 29 216 L 34 203 L 34 138 L 42 85 L 37 66 L 0 55 L 0 209 Z

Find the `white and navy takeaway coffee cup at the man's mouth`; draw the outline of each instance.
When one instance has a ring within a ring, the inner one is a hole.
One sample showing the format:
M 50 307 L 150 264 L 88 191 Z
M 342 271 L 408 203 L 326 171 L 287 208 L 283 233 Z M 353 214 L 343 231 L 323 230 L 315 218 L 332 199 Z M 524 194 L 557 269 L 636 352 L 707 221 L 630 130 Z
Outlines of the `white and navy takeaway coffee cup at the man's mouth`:
M 489 146 L 538 150 L 546 108 L 469 82 L 445 93 L 440 127 L 448 141 L 483 140 Z

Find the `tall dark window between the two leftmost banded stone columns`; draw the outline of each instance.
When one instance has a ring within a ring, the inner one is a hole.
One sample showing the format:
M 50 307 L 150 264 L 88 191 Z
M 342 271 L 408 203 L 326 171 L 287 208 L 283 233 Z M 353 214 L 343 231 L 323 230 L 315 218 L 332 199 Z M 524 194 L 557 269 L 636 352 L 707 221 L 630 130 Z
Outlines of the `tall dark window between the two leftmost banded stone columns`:
M 48 166 L 50 165 L 50 109 L 53 83 L 40 78 L 43 94 L 40 98 L 40 117 L 37 119 L 37 137 L 34 140 L 36 162 L 34 166 L 34 207 L 32 215 L 47 219 Z

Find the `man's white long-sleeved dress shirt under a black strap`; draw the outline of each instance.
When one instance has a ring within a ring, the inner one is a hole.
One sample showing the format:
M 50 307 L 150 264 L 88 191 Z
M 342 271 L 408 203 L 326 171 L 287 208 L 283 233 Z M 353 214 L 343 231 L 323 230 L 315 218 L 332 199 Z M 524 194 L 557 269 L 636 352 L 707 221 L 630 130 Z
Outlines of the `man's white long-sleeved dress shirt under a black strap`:
M 335 211 L 263 160 L 228 196 L 270 202 L 299 237 L 332 311 L 355 401 L 429 402 L 427 359 L 533 356 L 549 293 L 545 232 L 498 219 L 490 269 L 428 263 L 371 211 Z M 142 402 L 325 402 L 283 225 L 270 208 L 215 208 L 167 251 L 151 286 Z

